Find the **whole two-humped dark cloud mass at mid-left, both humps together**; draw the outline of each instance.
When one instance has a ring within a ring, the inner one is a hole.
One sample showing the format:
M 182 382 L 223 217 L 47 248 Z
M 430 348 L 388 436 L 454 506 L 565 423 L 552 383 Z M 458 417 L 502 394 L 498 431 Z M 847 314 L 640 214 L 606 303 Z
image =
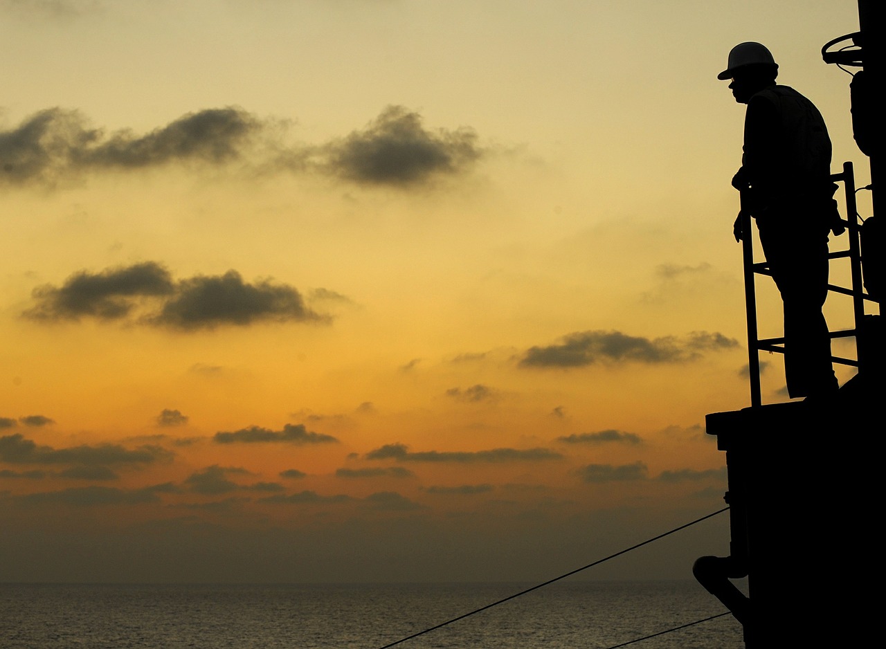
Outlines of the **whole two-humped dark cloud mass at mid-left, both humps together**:
M 148 313 L 133 322 L 180 331 L 266 321 L 330 321 L 307 308 L 299 291 L 288 284 L 245 282 L 235 270 L 175 282 L 167 268 L 154 261 L 98 273 L 82 270 L 61 287 L 37 287 L 32 296 L 36 304 L 22 315 L 45 322 L 83 317 L 119 321 L 134 315 L 139 305 Z

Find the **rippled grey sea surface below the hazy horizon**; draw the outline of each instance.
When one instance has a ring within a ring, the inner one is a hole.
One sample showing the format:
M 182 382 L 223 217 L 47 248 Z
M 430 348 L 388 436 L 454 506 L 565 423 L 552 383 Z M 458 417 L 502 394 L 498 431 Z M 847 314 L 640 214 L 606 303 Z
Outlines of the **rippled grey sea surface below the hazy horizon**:
M 0 584 L 3 649 L 379 649 L 532 584 Z M 723 612 L 695 582 L 563 582 L 397 645 L 603 648 Z M 631 645 L 740 649 L 731 615 Z

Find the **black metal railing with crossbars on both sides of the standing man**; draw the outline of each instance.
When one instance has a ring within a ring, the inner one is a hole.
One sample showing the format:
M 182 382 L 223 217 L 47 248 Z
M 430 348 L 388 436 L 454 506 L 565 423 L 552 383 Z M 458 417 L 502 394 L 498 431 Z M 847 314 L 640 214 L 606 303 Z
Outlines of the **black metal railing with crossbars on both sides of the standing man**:
M 841 174 L 831 174 L 832 182 L 843 182 L 843 193 L 846 198 L 846 219 L 843 226 L 849 236 L 849 248 L 842 251 L 828 252 L 828 259 L 849 258 L 851 268 L 851 287 L 836 286 L 828 283 L 828 291 L 842 293 L 852 297 L 852 312 L 855 326 L 851 329 L 831 331 L 830 337 L 844 338 L 856 337 L 856 359 L 843 359 L 831 356 L 832 363 L 859 367 L 859 344 L 858 332 L 861 321 L 865 317 L 865 300 L 874 301 L 865 293 L 861 280 L 861 246 L 859 242 L 861 224 L 859 213 L 855 204 L 855 176 L 852 171 L 852 163 L 843 163 Z M 744 305 L 748 312 L 748 371 L 750 374 L 750 405 L 762 406 L 760 397 L 760 359 L 759 352 L 784 353 L 784 338 L 758 338 L 757 333 L 757 292 L 755 289 L 755 275 L 769 275 L 768 264 L 765 261 L 754 261 L 753 240 L 750 228 L 750 213 L 742 209 L 742 256 L 744 261 Z

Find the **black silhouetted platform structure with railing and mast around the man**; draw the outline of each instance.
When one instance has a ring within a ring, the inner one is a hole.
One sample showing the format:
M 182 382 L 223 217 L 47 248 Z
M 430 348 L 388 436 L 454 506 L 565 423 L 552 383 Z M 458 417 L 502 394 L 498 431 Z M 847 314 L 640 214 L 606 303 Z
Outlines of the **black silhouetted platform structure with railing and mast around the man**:
M 881 15 L 880 0 L 859 0 L 860 31 L 822 48 L 826 63 L 864 67 L 851 84 L 852 124 L 859 149 L 871 159 L 872 182 L 865 189 L 874 196 L 874 216 L 861 220 L 851 163 L 831 175 L 833 182 L 843 183 L 849 243 L 828 258 L 849 259 L 851 286 L 828 284 L 828 291 L 851 296 L 854 326 L 829 336 L 854 336 L 856 342 L 855 359 L 832 361 L 858 367 L 858 374 L 835 393 L 762 403 L 758 354 L 783 352 L 784 339 L 758 338 L 756 275 L 771 273 L 765 262 L 753 259 L 750 215 L 742 208 L 751 406 L 705 418 L 707 433 L 726 452 L 730 554 L 696 560 L 693 573 L 742 622 L 749 649 L 852 646 L 867 642 L 872 629 L 871 622 L 866 629 L 856 621 L 874 607 L 867 580 L 875 573 L 865 567 L 870 551 L 859 528 L 865 524 L 862 508 L 878 493 L 877 472 L 865 466 L 853 440 L 879 430 L 886 384 L 882 233 L 874 189 L 882 152 L 882 110 L 874 97 L 883 86 Z M 847 41 L 851 44 L 831 50 Z M 870 305 L 876 313 L 866 313 Z M 843 557 L 843 565 L 835 565 L 835 557 Z M 748 577 L 748 596 L 730 582 L 743 576 Z

